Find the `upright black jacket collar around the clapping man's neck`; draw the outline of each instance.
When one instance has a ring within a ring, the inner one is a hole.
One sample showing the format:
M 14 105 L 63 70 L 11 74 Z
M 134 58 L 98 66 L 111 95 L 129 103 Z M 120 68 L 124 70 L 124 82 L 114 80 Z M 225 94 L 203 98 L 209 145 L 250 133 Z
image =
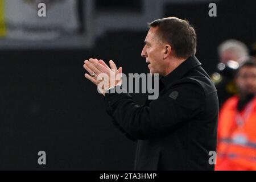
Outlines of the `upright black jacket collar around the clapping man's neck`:
M 187 72 L 199 65 L 201 65 L 201 63 L 196 58 L 196 56 L 193 55 L 188 57 L 188 59 L 181 63 L 177 68 L 175 68 L 174 71 L 165 77 L 161 77 L 160 81 L 163 82 L 164 86 L 171 84 L 172 82 L 182 78 Z

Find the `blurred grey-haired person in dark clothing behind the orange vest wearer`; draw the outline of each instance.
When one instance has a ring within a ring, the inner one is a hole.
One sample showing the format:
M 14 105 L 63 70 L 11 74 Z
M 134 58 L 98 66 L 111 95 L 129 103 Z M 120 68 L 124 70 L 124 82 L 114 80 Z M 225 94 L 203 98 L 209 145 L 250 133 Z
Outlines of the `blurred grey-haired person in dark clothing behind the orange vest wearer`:
M 212 80 L 216 85 L 220 107 L 224 101 L 237 93 L 234 76 L 248 55 L 248 48 L 238 40 L 226 40 L 218 46 L 220 63 L 212 75 Z

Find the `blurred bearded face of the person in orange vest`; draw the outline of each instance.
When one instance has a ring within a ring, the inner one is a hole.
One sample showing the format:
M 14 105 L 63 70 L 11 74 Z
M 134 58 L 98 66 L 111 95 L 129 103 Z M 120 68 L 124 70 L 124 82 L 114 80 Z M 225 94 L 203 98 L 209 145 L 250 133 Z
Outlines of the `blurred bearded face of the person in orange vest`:
M 255 94 L 256 93 L 256 68 L 242 67 L 238 72 L 236 79 L 237 86 L 242 93 Z

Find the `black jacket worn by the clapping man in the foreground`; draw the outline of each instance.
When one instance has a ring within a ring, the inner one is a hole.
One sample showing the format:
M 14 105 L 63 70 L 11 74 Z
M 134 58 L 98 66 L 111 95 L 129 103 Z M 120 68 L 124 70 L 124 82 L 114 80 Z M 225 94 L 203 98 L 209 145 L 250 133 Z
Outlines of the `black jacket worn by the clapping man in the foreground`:
M 129 94 L 105 94 L 115 125 L 138 140 L 136 170 L 214 170 L 209 151 L 216 151 L 218 98 L 200 65 L 189 57 L 160 79 L 158 99 L 143 106 Z

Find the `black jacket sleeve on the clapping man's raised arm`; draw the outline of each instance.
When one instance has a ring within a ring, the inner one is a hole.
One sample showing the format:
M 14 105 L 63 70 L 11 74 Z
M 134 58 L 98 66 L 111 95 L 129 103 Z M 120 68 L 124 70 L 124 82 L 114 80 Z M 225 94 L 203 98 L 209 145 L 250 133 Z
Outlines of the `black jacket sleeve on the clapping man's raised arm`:
M 148 139 L 171 132 L 189 122 L 204 108 L 205 94 L 196 83 L 178 84 L 148 106 L 136 104 L 126 93 L 106 93 L 106 111 L 114 123 L 133 139 Z

